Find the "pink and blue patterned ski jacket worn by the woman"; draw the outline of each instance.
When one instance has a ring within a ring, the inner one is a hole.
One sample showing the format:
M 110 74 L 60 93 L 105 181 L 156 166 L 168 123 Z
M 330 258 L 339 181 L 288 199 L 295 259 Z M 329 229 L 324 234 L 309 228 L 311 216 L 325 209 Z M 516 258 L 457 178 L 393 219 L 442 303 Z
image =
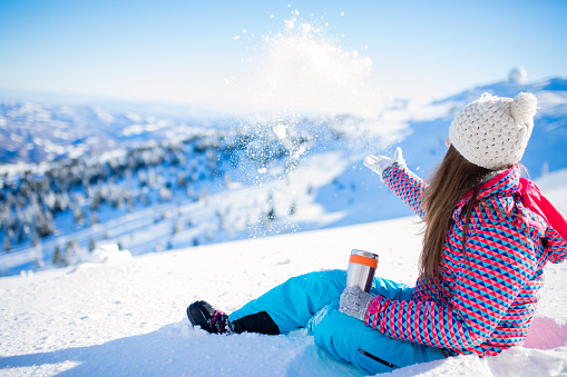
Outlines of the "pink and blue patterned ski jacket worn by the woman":
M 394 165 L 382 176 L 418 216 L 426 183 Z M 366 325 L 392 338 L 444 348 L 450 354 L 497 355 L 520 346 L 544 286 L 544 266 L 567 258 L 567 242 L 524 206 L 517 166 L 482 183 L 465 252 L 466 197 L 454 209 L 440 265 L 439 285 L 418 279 L 413 300 L 372 300 Z

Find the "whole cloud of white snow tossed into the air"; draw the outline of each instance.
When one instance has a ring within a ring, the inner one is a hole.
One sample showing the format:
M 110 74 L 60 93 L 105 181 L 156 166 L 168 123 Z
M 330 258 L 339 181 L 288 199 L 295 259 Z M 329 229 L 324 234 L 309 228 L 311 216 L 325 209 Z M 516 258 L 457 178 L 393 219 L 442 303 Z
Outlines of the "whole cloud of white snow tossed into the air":
M 360 140 L 372 140 L 360 126 L 373 127 L 380 110 L 372 60 L 341 47 L 342 36 L 329 37 L 324 20 L 305 21 L 294 10 L 280 29 L 247 30 L 247 73 L 227 80 L 246 113 L 236 130 L 235 178 L 257 188 L 247 221 L 255 237 L 295 231 L 305 214 L 320 210 L 317 187 L 356 160 L 352 150 L 364 152 Z

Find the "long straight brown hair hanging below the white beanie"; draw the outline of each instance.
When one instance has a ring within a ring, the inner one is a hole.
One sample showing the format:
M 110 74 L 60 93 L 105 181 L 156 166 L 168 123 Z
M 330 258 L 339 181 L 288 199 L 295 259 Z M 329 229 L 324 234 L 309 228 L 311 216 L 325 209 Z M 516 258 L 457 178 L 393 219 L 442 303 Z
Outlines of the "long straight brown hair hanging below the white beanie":
M 462 235 L 465 247 L 469 217 L 477 201 L 479 186 L 492 170 L 467 161 L 453 146 L 430 178 L 429 187 L 423 192 L 422 205 L 426 209 L 426 228 L 423 249 L 420 257 L 420 276 L 427 281 L 438 281 L 440 275 L 441 254 L 447 238 L 454 208 L 467 192 L 472 190 L 472 198 L 467 204 L 466 225 Z

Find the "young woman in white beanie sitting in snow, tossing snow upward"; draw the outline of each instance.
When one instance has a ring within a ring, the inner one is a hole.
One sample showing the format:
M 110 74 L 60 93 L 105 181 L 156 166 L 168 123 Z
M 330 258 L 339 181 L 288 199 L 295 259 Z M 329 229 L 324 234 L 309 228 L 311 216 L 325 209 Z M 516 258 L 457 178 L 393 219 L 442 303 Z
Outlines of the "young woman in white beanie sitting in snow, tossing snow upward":
M 449 150 L 429 183 L 402 158 L 369 156 L 424 221 L 414 288 L 374 278 L 370 294 L 346 272 L 291 278 L 227 316 L 205 301 L 187 308 L 209 333 L 286 334 L 305 327 L 339 360 L 369 374 L 459 354 L 521 346 L 544 286 L 544 266 L 567 258 L 567 221 L 529 180 L 520 160 L 536 97 L 483 95 L 449 128 Z

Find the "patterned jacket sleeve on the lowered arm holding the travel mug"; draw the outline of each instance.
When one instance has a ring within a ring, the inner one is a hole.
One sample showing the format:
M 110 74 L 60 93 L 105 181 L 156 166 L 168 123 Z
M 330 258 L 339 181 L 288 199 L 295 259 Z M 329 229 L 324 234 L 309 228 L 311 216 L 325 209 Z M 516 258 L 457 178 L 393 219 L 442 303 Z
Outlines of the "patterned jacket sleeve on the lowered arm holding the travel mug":
M 536 261 L 531 240 L 511 224 L 485 222 L 471 230 L 447 302 L 377 297 L 366 325 L 392 338 L 478 350 L 535 274 Z

